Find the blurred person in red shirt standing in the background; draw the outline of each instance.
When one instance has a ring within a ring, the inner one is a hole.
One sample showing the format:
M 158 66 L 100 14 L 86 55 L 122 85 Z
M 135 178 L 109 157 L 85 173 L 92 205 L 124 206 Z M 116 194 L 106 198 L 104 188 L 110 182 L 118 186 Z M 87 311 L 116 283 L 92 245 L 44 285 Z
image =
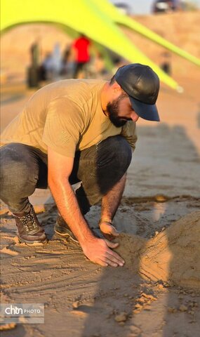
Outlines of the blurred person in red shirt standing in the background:
M 74 78 L 79 78 L 80 72 L 86 70 L 86 65 L 90 61 L 90 46 L 91 41 L 84 35 L 74 41 L 72 45 L 74 49 L 75 67 L 74 67 Z

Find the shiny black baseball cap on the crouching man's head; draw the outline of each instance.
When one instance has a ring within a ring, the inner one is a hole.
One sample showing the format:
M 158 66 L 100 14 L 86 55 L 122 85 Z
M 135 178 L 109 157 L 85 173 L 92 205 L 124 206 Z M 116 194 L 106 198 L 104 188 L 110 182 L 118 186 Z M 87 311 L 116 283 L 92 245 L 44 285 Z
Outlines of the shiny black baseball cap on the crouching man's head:
M 116 82 L 128 93 L 133 110 L 143 119 L 159 121 L 156 99 L 159 77 L 148 65 L 133 63 L 120 67 L 114 75 Z

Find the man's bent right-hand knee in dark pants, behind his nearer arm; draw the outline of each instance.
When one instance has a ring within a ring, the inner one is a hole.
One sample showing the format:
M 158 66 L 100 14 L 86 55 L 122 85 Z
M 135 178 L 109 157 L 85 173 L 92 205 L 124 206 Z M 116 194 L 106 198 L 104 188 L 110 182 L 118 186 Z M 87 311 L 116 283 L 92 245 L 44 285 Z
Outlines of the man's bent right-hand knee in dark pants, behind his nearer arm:
M 79 179 L 84 187 L 77 191 L 82 209 L 94 205 L 124 176 L 131 163 L 132 150 L 122 136 L 109 137 L 81 153 Z M 80 206 L 80 205 L 79 205 Z

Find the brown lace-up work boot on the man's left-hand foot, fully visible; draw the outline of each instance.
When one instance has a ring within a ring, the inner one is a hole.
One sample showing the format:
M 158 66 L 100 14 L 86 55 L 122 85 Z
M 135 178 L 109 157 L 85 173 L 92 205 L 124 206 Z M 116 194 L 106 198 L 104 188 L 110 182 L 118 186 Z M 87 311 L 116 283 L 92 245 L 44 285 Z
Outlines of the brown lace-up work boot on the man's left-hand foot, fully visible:
M 46 234 L 36 218 L 33 206 L 31 206 L 28 213 L 13 213 L 13 216 L 18 227 L 20 242 L 25 242 L 25 244 L 46 244 Z

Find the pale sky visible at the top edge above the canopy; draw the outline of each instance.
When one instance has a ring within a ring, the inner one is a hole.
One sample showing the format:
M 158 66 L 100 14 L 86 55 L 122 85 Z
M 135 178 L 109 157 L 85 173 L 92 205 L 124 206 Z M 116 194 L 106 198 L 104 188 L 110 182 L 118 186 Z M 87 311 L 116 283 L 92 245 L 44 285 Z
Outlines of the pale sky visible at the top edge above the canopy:
M 99 0 L 100 1 L 100 0 Z M 124 3 L 131 6 L 133 14 L 149 14 L 154 0 L 109 0 L 112 3 Z M 193 0 L 200 7 L 200 0 Z

